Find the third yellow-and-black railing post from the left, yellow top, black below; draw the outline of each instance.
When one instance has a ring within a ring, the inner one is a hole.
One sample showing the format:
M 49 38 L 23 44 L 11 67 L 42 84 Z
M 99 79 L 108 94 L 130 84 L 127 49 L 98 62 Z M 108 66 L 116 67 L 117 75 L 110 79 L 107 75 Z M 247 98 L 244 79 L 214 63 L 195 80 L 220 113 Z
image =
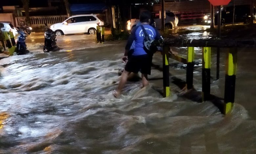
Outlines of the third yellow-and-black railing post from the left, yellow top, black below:
M 211 48 L 203 47 L 202 101 L 210 97 Z

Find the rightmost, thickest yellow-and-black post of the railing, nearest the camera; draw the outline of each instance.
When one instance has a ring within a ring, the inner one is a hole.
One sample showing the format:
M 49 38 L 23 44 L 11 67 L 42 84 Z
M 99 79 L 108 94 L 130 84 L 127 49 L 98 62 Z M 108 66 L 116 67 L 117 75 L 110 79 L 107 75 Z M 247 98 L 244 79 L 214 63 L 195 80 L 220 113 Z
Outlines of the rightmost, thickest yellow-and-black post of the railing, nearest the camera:
M 230 48 L 226 59 L 224 114 L 232 110 L 235 101 L 236 65 L 237 48 Z

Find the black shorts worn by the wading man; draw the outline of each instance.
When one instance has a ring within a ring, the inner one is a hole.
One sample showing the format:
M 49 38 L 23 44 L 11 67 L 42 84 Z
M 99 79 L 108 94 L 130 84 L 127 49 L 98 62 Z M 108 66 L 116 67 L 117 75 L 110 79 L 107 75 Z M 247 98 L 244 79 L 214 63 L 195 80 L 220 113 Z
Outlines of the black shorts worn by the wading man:
M 152 56 L 148 56 L 147 54 L 139 55 L 139 56 L 130 56 L 128 58 L 128 62 L 125 65 L 125 70 L 127 72 L 138 73 L 139 71 L 142 74 L 151 74 L 151 63 Z

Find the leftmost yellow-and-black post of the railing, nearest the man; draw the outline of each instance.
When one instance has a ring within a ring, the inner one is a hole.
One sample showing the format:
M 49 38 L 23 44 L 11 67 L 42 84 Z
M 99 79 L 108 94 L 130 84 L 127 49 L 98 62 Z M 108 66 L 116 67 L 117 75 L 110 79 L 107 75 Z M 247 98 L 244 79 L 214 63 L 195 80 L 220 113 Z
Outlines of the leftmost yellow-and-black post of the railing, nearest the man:
M 163 97 L 170 96 L 169 46 L 163 45 Z

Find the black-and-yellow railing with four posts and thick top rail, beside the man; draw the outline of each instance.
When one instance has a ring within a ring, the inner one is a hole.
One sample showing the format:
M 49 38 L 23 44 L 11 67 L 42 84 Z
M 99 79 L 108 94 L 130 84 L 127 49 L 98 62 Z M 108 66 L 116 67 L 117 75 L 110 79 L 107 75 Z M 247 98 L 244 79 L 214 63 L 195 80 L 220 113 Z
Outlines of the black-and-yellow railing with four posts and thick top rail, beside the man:
M 222 113 L 227 114 L 233 108 L 235 100 L 235 83 L 237 67 L 237 48 L 255 48 L 255 38 L 251 39 L 182 39 L 165 38 L 163 43 L 163 96 L 171 93 L 169 81 L 169 47 L 187 47 L 187 61 L 175 58 L 187 64 L 186 89 L 193 89 L 194 47 L 202 47 L 202 101 L 211 99 L 210 93 L 210 69 L 211 48 L 229 48 L 226 56 L 225 92 Z M 173 55 L 172 55 L 173 56 Z M 173 56 L 175 57 L 175 56 Z M 173 58 L 172 57 L 172 58 Z M 182 61 L 181 61 L 182 60 Z

